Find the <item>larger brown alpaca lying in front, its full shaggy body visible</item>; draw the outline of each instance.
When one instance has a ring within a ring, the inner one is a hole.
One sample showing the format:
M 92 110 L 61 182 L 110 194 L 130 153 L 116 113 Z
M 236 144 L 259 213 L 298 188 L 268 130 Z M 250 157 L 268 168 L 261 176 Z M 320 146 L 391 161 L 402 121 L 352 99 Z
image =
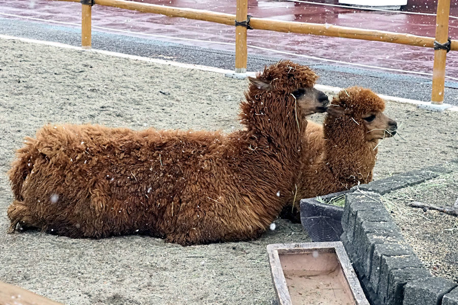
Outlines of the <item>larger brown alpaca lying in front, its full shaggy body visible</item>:
M 316 79 L 290 61 L 266 67 L 241 103 L 246 130 L 228 135 L 45 126 L 18 149 L 9 171 L 10 230 L 137 232 L 181 245 L 255 238 L 299 178 L 301 118 L 326 110 Z

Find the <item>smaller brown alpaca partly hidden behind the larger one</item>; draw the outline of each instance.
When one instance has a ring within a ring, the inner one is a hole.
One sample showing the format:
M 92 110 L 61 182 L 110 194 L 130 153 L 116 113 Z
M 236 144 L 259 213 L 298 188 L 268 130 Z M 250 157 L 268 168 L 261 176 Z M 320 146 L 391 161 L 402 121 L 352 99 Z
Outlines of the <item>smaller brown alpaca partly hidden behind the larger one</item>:
M 380 97 L 355 86 L 341 90 L 332 100 L 323 126 L 308 122 L 296 207 L 301 198 L 349 190 L 372 180 L 378 144 L 393 136 L 397 128 L 384 110 Z M 291 212 L 291 204 L 285 209 Z M 299 211 L 294 214 L 299 220 Z

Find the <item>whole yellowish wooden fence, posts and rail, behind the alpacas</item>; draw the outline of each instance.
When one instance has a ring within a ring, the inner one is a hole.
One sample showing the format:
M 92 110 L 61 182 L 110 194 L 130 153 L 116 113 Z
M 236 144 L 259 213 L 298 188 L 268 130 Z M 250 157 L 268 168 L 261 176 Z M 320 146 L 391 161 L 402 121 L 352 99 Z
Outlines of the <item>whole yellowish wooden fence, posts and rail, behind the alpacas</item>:
M 248 0 L 237 0 L 236 15 L 217 13 L 206 10 L 195 10 L 189 8 L 175 8 L 154 4 L 138 3 L 126 0 L 59 0 L 69 2 L 80 2 L 82 5 L 81 16 L 81 46 L 83 49 L 91 48 L 91 9 L 92 5 L 110 6 L 127 10 L 134 10 L 144 13 L 161 14 L 168 17 L 182 17 L 187 19 L 203 20 L 234 26 L 236 22 L 246 24 Z M 281 21 L 267 18 L 252 17 L 249 25 L 253 29 L 264 29 L 267 31 L 311 34 L 331 37 L 344 37 L 360 40 L 372 40 L 390 42 L 418 47 L 433 48 L 435 45 L 447 44 L 448 40 L 448 17 L 450 12 L 450 0 L 439 0 L 437 5 L 437 26 L 436 38 L 416 36 L 404 33 L 394 33 L 354 27 L 337 26 L 329 24 L 304 23 L 295 21 Z M 245 21 L 245 23 L 244 23 Z M 236 63 L 237 73 L 246 72 L 247 44 L 246 26 L 236 26 Z M 451 40 L 449 49 L 458 50 L 458 40 Z M 431 101 L 433 104 L 442 104 L 444 101 L 445 84 L 445 60 L 447 50 L 435 49 L 433 69 L 433 90 Z

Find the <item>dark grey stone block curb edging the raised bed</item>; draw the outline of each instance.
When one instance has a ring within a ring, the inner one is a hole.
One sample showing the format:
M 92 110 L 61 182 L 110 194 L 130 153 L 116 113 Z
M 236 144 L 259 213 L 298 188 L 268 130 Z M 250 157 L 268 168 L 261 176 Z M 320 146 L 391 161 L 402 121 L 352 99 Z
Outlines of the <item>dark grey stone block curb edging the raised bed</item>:
M 380 198 L 447 172 L 427 167 L 356 186 L 346 195 L 340 239 L 372 304 L 458 305 L 458 284 L 431 276 Z

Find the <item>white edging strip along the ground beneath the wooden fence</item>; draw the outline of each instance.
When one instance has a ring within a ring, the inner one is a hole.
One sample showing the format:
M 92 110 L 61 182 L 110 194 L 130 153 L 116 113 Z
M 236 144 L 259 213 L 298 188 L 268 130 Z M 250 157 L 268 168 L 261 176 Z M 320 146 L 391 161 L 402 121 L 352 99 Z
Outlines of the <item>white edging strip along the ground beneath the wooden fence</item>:
M 79 50 L 79 51 L 84 51 L 84 52 L 94 52 L 94 53 L 100 53 L 100 54 L 105 54 L 105 55 L 109 55 L 109 56 L 128 58 L 128 59 L 134 59 L 134 60 L 141 60 L 143 62 L 148 62 L 148 63 L 153 63 L 153 64 L 168 65 L 168 66 L 185 68 L 185 69 L 195 69 L 195 70 L 206 71 L 206 72 L 214 72 L 214 73 L 219 73 L 219 74 L 224 74 L 224 75 L 226 75 L 226 74 L 229 74 L 229 75 L 235 74 L 235 72 L 233 70 L 220 69 L 220 68 L 202 66 L 202 65 L 184 64 L 184 63 L 174 62 L 172 60 L 150 58 L 150 57 L 130 55 L 130 54 L 124 54 L 124 53 L 118 53 L 118 52 L 105 51 L 105 50 L 97 50 L 97 49 L 83 50 L 81 47 L 75 47 L 75 46 L 68 45 L 68 44 L 63 44 L 63 43 L 60 43 L 60 42 L 43 41 L 43 40 L 36 40 L 36 39 L 22 38 L 22 37 L 14 37 L 14 36 L 9 36 L 9 35 L 2 35 L 2 34 L 0 34 L 0 39 L 19 40 L 19 41 L 27 42 L 27 43 L 37 43 L 37 44 L 42 44 L 42 45 L 49 45 L 49 46 L 54 46 L 54 47 Z M 246 76 L 248 76 L 248 75 L 251 76 L 254 73 L 255 72 L 247 72 L 247 73 L 245 73 L 245 75 Z M 330 94 L 337 94 L 341 90 L 341 88 L 339 88 L 339 87 L 332 87 L 332 86 L 326 86 L 326 85 L 321 85 L 321 84 L 315 85 L 315 88 L 317 88 L 318 90 L 330 93 Z M 410 105 L 416 105 L 416 106 L 419 106 L 419 105 L 430 105 L 431 104 L 429 102 L 422 102 L 422 101 L 417 101 L 417 100 L 404 99 L 404 98 L 386 96 L 386 95 L 381 95 L 381 94 L 379 95 L 379 97 L 381 97 L 385 101 L 394 102 L 394 103 L 398 103 L 398 104 L 410 104 Z M 447 104 L 445 104 L 445 105 L 447 105 Z M 451 106 L 451 107 L 447 108 L 446 110 L 448 110 L 448 111 L 458 111 L 458 106 Z

